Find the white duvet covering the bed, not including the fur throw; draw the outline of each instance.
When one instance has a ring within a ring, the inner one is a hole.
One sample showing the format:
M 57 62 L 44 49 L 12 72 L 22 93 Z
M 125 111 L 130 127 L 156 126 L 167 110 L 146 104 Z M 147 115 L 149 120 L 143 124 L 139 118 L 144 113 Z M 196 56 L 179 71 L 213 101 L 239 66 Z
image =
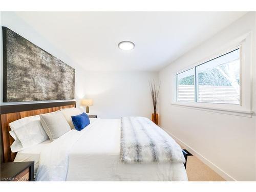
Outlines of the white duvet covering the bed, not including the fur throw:
M 40 153 L 37 181 L 187 181 L 183 163 L 120 161 L 120 119 L 91 119 Z

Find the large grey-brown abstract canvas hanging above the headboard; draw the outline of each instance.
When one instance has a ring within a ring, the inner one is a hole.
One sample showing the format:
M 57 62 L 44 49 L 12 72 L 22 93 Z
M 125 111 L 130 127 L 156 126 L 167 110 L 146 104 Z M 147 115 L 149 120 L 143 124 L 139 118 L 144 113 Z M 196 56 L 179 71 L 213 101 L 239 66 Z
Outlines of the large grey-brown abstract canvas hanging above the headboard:
M 3 27 L 4 102 L 74 99 L 75 69 Z

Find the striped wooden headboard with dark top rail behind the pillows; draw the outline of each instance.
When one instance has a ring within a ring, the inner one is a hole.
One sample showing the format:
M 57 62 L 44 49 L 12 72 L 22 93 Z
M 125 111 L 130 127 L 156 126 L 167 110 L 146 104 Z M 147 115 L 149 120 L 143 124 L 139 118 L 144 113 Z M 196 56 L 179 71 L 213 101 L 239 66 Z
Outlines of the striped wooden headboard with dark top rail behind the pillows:
M 2 105 L 0 124 L 3 162 L 12 162 L 16 156 L 16 153 L 12 153 L 10 148 L 11 144 L 14 142 L 14 139 L 9 134 L 9 131 L 11 131 L 9 127 L 10 122 L 23 117 L 39 115 L 40 113 L 50 113 L 60 109 L 73 108 L 75 106 L 75 101 Z

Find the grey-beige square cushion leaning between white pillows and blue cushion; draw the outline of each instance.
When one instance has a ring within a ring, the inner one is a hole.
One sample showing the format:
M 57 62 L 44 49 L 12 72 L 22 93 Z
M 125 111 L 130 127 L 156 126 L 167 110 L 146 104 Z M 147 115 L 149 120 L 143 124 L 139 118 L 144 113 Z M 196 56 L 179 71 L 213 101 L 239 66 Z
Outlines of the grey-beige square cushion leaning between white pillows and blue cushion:
M 69 123 L 60 111 L 40 114 L 42 127 L 50 140 L 54 140 L 71 130 Z

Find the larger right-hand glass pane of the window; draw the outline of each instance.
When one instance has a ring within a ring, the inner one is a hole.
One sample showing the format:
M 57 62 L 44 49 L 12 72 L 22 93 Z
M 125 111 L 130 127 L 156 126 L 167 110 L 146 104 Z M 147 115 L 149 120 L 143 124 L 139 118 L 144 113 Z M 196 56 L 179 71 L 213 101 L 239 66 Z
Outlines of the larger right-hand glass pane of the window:
M 196 67 L 198 102 L 240 104 L 240 51 Z

